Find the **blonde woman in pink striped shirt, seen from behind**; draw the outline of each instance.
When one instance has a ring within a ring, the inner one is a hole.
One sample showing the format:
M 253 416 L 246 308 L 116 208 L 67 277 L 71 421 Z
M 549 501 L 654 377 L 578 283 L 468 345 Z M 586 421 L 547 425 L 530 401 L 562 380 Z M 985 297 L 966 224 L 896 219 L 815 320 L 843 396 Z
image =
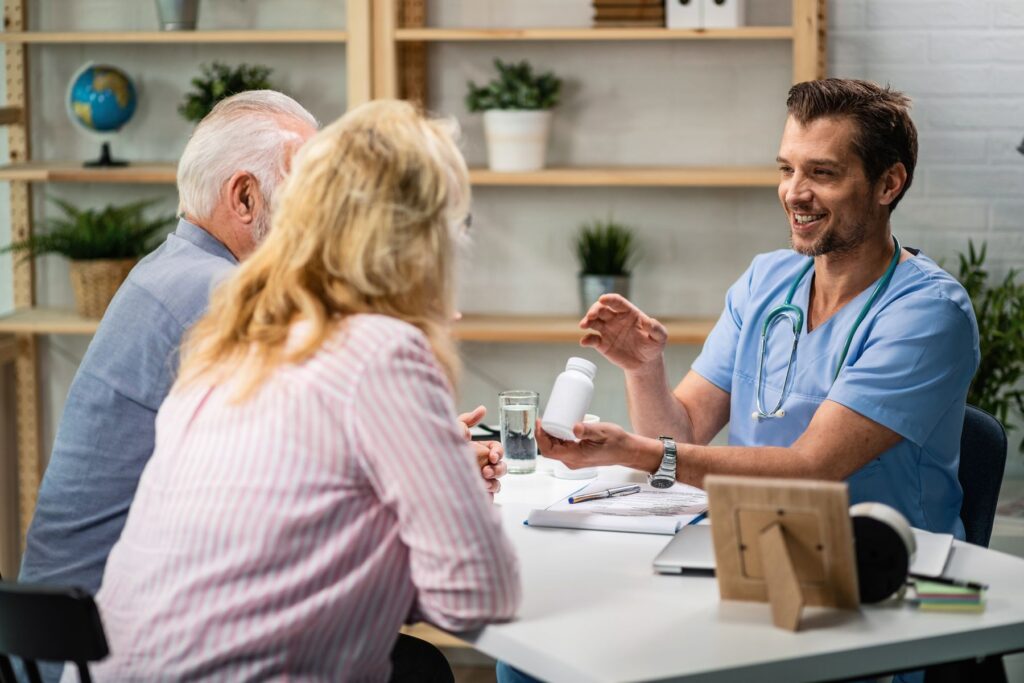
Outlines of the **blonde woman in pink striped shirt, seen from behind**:
M 383 681 L 403 622 L 513 615 L 516 560 L 452 400 L 468 206 L 450 126 L 407 103 L 302 148 L 161 408 L 97 595 L 97 679 Z

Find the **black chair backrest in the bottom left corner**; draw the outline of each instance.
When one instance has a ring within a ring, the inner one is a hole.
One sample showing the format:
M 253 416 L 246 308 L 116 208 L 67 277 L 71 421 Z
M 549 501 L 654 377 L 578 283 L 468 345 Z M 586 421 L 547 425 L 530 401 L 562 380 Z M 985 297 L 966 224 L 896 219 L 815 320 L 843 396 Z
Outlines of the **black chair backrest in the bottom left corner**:
M 77 588 L 0 582 L 0 680 L 10 676 L 9 656 L 25 663 L 29 680 L 40 680 L 37 659 L 74 661 L 90 681 L 86 663 L 110 650 L 92 596 Z

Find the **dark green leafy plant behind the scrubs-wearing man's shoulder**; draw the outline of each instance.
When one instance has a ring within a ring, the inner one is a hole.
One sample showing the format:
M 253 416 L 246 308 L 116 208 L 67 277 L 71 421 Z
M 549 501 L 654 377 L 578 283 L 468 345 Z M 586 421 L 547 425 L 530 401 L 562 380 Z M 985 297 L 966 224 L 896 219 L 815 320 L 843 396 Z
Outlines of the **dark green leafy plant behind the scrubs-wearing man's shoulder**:
M 1024 284 L 1017 282 L 1018 271 L 1010 272 L 998 283 L 989 285 L 985 269 L 988 245 L 975 249 L 968 242 L 968 253 L 959 255 L 957 280 L 964 285 L 974 314 L 978 318 L 981 342 L 981 365 L 971 381 L 967 400 L 988 411 L 1008 429 L 1010 410 L 1024 413 Z M 1021 439 L 1024 449 L 1024 438 Z

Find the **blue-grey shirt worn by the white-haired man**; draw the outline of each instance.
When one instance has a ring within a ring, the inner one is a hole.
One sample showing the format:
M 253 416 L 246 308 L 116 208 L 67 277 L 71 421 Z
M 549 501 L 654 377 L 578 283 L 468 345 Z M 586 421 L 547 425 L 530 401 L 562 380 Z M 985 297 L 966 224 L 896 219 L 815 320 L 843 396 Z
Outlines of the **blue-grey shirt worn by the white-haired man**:
M 181 220 L 118 290 L 68 393 L 19 581 L 99 589 L 153 455 L 181 337 L 237 263 L 209 232 Z

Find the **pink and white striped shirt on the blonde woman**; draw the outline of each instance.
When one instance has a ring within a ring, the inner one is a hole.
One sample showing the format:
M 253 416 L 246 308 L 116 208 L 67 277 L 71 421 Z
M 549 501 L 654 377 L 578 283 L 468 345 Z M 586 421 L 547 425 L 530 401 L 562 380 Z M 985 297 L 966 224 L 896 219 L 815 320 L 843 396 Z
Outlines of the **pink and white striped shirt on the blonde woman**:
M 252 398 L 229 394 L 160 410 L 97 595 L 98 680 L 386 680 L 414 615 L 512 617 L 516 559 L 419 330 L 353 316 Z

